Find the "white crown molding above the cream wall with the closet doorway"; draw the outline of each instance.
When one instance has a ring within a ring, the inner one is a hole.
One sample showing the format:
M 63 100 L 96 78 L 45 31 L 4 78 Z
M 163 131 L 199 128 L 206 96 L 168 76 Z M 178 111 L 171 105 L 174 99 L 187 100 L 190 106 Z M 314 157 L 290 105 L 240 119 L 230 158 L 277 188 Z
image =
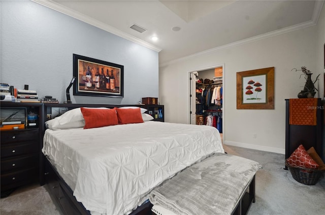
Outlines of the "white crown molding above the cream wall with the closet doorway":
M 252 42 L 255 42 L 255 41 L 275 37 L 276 35 L 280 35 L 280 34 L 284 34 L 284 33 L 288 33 L 288 32 L 291 32 L 291 31 L 295 31 L 295 30 L 299 30 L 299 29 L 302 29 L 302 28 L 306 28 L 306 27 L 316 25 L 317 21 L 318 21 L 318 18 L 320 16 L 320 13 L 321 13 L 323 3 L 324 3 L 324 1 L 316 1 L 315 2 L 314 12 L 313 12 L 312 18 L 308 22 L 304 22 L 304 23 L 300 23 L 300 24 L 297 24 L 297 25 L 289 26 L 289 27 L 286 27 L 286 28 L 282 28 L 280 30 L 274 30 L 274 31 L 271 31 L 271 32 L 268 32 L 268 33 L 257 35 L 255 37 L 251 37 L 251 38 L 244 39 L 244 40 L 241 40 L 241 41 L 237 41 L 237 42 L 234 42 L 234 43 L 226 44 L 226 45 L 223 45 L 223 46 L 218 46 L 218 47 L 215 47 L 215 48 L 212 48 L 212 49 L 208 49 L 208 50 L 205 50 L 205 51 L 202 51 L 202 52 L 187 55 L 185 57 L 177 58 L 177 59 L 170 60 L 170 61 L 167 61 L 167 62 L 162 62 L 162 63 L 159 64 L 159 67 L 174 64 L 174 63 L 177 63 L 177 62 L 180 62 L 180 61 L 192 58 L 192 57 L 198 57 L 200 55 L 205 55 L 205 54 L 208 54 L 208 53 L 211 53 L 211 52 L 216 52 L 216 51 L 219 51 L 219 50 L 222 50 L 222 49 L 229 49 L 229 48 L 232 48 L 232 47 L 241 46 L 241 45 L 252 43 Z

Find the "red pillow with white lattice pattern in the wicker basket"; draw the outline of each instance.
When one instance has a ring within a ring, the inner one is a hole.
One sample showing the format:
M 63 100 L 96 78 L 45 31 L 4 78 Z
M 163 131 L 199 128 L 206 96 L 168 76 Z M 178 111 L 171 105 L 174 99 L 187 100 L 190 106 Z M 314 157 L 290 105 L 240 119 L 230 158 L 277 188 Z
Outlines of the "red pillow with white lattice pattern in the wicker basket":
M 318 164 L 316 161 L 308 155 L 305 147 L 300 145 L 293 154 L 287 159 L 287 163 L 291 166 L 298 166 L 298 167 L 305 167 L 309 169 L 316 169 L 318 168 Z

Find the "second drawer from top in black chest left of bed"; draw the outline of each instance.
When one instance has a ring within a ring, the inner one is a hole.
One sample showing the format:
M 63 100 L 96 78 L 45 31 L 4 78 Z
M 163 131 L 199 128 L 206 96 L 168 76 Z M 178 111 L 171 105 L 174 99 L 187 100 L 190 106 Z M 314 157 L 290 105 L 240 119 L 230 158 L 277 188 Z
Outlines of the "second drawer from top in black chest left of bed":
M 1 158 L 38 153 L 38 141 L 1 145 Z

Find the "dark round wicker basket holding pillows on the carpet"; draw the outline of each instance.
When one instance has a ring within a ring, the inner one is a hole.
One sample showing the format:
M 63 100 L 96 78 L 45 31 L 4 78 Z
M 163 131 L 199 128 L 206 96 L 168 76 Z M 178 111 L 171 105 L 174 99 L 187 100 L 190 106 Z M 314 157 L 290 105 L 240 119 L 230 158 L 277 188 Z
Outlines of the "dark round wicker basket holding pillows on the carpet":
M 320 177 L 324 177 L 324 170 L 291 166 L 287 163 L 287 160 L 285 160 L 285 165 L 289 168 L 293 178 L 304 185 L 315 185 Z

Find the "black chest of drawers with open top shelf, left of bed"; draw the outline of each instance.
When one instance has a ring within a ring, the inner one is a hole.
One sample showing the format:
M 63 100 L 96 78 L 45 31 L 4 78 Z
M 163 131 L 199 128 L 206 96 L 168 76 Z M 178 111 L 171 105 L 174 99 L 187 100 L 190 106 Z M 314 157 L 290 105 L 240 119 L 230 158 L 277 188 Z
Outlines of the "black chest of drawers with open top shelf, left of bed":
M 6 111 L 22 108 L 26 114 L 36 113 L 37 120 L 28 127 L 25 116 L 24 129 L 1 131 L 1 196 L 9 195 L 15 188 L 39 181 L 42 147 L 43 104 L 1 102 Z M 3 117 L 2 117 L 3 120 Z

